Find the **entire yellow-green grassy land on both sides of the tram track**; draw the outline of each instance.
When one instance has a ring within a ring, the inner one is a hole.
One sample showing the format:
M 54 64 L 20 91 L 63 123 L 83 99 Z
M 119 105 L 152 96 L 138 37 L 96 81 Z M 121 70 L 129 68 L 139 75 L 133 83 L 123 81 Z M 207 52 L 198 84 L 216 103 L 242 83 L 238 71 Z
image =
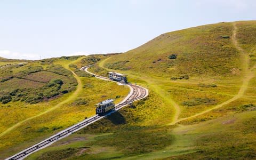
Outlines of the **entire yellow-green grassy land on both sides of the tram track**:
M 79 71 L 95 63 L 93 73 L 124 73 L 148 87 L 149 96 L 26 159 L 255 159 L 255 30 L 256 21 L 221 22 L 165 33 L 122 54 L 2 68 L 3 77 L 13 77 L 3 86 L 22 81 L 28 94 L 45 86 L 59 94 L 30 104 L 2 87 L 11 101 L 0 108 L 7 117 L 1 120 L 1 158 L 93 115 L 97 101 L 127 94 L 123 86 Z M 74 78 L 77 86 L 68 90 Z M 31 79 L 33 85 L 23 83 Z M 53 79 L 63 84 L 49 86 Z

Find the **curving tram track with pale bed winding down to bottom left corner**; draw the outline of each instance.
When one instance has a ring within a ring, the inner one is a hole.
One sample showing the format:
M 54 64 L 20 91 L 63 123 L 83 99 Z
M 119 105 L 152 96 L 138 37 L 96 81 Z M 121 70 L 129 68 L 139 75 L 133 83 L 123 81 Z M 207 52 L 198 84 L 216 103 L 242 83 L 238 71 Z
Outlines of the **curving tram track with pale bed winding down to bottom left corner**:
M 102 76 L 90 73 L 87 70 L 89 67 L 90 66 L 82 67 L 81 70 L 84 70 L 87 73 L 92 74 L 92 75 L 94 75 L 97 78 L 105 79 L 106 81 L 111 81 L 111 80 L 109 80 L 106 77 L 102 77 Z M 116 82 L 116 81 L 114 81 L 114 82 Z M 65 138 L 68 135 L 73 134 L 74 132 L 76 132 L 78 130 L 83 129 L 87 125 L 90 125 L 90 124 L 92 124 L 92 123 L 94 123 L 96 121 L 99 121 L 99 119 L 102 119 L 102 118 L 104 118 L 104 117 L 114 113 L 115 111 L 117 111 L 117 110 L 123 108 L 124 106 L 128 105 L 130 102 L 137 101 L 137 100 L 146 98 L 148 96 L 148 90 L 145 89 L 144 87 L 141 87 L 139 85 L 134 85 L 134 84 L 131 84 L 131 83 L 126 84 L 126 85 L 128 85 L 130 87 L 131 92 L 129 93 L 129 95 L 127 95 L 127 97 L 122 102 L 118 103 L 115 106 L 115 110 L 113 110 L 113 111 L 111 111 L 108 114 L 103 115 L 103 116 L 94 115 L 94 116 L 92 116 L 90 118 L 87 118 L 84 121 L 82 121 L 80 123 L 77 123 L 77 124 L 75 124 L 73 126 L 70 126 L 67 129 L 65 129 L 63 131 L 60 131 L 57 134 L 54 134 L 52 137 L 47 138 L 47 139 L 37 143 L 36 145 L 34 145 L 32 147 L 29 147 L 29 148 L 27 148 L 25 150 L 22 150 L 22 151 L 20 151 L 20 153 L 15 154 L 14 156 L 6 158 L 6 159 L 13 159 L 13 160 L 14 159 L 23 159 L 23 158 L 27 157 L 28 155 L 30 155 L 30 154 L 32 154 L 32 153 L 34 153 L 34 152 L 36 152 L 36 151 L 38 151 L 40 149 L 43 149 L 43 148 L 45 148 L 47 146 L 50 146 L 52 143 L 57 142 L 58 140 L 60 140 L 62 138 Z

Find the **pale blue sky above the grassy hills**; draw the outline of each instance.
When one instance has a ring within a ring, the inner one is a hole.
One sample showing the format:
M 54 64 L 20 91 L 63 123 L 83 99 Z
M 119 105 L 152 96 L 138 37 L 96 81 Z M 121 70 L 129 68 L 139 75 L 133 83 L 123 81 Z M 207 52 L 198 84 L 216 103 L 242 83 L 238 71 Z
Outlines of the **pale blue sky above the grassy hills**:
M 256 1 L 0 0 L 0 57 L 125 52 L 174 30 L 256 20 Z

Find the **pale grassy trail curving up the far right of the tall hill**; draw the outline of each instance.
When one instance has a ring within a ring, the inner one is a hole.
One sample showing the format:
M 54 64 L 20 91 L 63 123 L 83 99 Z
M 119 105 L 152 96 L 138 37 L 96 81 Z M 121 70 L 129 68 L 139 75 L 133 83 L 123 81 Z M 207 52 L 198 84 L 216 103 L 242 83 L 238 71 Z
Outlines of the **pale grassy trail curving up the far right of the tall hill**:
M 246 52 L 244 49 L 242 49 L 242 47 L 239 46 L 239 43 L 237 42 L 237 39 L 236 39 L 236 34 L 237 34 L 237 27 L 236 27 L 236 24 L 233 23 L 233 26 L 234 26 L 234 29 L 233 29 L 233 35 L 232 35 L 232 37 L 231 37 L 231 41 L 232 41 L 232 43 L 234 44 L 234 46 L 236 47 L 236 49 L 237 49 L 240 53 L 242 53 L 242 58 L 243 58 L 243 63 L 242 63 L 242 64 L 244 65 L 244 66 L 243 66 L 243 70 L 244 70 L 244 79 L 243 79 L 243 83 L 242 83 L 242 85 L 241 85 L 241 87 L 240 87 L 238 93 L 237 93 L 233 98 L 231 98 L 231 99 L 229 99 L 229 100 L 227 100 L 227 101 L 225 101 L 225 102 L 223 102 L 223 103 L 221 103 L 221 104 L 219 104 L 219 105 L 217 105 L 217 106 L 215 106 L 215 107 L 213 107 L 213 108 L 204 110 L 204 111 L 202 111 L 201 113 L 195 114 L 195 115 L 190 116 L 190 117 L 180 118 L 180 119 L 178 119 L 178 121 L 175 122 L 175 123 L 178 123 L 178 122 L 187 120 L 187 119 L 189 119 L 189 118 L 194 118 L 194 117 L 199 116 L 199 115 L 203 115 L 203 114 L 208 113 L 209 111 L 211 111 L 211 110 L 213 110 L 213 109 L 218 109 L 218 108 L 220 108 L 220 107 L 223 107 L 223 106 L 225 106 L 225 105 L 228 105 L 230 102 L 233 102 L 233 101 L 235 101 L 235 100 L 237 100 L 237 99 L 239 99 L 239 98 L 242 98 L 243 95 L 244 95 L 244 93 L 245 93 L 245 91 L 248 89 L 249 82 L 250 82 L 251 78 L 254 77 L 254 74 L 253 74 L 252 69 L 255 68 L 255 66 L 252 67 L 252 69 L 249 68 L 249 62 L 250 62 L 249 53 Z

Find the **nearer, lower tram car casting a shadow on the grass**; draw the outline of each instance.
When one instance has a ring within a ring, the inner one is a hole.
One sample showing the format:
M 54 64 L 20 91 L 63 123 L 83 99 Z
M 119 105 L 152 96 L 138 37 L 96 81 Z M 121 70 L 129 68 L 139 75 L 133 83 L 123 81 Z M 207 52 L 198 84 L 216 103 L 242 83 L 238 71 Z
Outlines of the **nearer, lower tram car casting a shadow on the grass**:
M 96 114 L 102 116 L 108 113 L 111 110 L 115 109 L 115 100 L 114 99 L 107 99 L 98 103 L 96 106 Z

